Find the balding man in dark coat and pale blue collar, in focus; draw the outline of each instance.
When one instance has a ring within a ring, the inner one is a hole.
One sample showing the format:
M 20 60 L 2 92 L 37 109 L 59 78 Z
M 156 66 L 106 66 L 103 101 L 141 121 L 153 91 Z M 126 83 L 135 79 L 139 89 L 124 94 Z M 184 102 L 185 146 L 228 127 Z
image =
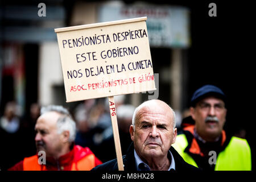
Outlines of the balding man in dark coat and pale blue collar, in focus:
M 133 143 L 123 156 L 125 171 L 200 171 L 186 163 L 171 147 L 177 135 L 175 113 L 165 102 L 150 100 L 139 105 L 129 131 Z M 117 170 L 117 159 L 92 169 Z

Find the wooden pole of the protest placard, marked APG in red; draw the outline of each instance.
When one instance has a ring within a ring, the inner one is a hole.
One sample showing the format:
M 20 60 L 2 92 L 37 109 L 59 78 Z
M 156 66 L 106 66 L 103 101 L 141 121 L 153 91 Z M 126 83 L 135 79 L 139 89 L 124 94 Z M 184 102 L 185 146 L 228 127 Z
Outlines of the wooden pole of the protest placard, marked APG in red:
M 114 96 L 110 96 L 108 98 L 109 98 L 110 117 L 111 117 L 114 142 L 115 142 L 115 154 L 117 154 L 118 170 L 124 171 L 121 144 L 120 144 L 119 133 L 118 133 L 118 125 L 117 125 L 117 110 L 115 108 Z

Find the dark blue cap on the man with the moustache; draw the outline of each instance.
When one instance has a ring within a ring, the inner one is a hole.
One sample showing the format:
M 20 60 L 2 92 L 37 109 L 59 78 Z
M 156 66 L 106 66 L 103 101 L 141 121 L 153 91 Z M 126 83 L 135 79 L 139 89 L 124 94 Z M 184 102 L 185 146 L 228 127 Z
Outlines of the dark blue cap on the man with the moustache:
M 208 96 L 214 96 L 226 102 L 226 96 L 220 88 L 214 85 L 204 85 L 193 93 L 191 106 L 195 106 L 197 102 Z

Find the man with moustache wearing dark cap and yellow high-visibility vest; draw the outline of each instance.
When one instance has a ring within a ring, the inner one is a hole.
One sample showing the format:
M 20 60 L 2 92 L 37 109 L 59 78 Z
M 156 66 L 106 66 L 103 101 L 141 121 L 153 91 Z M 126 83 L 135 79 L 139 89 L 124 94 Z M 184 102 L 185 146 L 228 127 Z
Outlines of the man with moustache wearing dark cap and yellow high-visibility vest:
M 183 133 L 172 146 L 183 159 L 204 170 L 251 170 L 251 151 L 246 139 L 226 135 L 226 97 L 220 88 L 204 85 L 191 98 Z

